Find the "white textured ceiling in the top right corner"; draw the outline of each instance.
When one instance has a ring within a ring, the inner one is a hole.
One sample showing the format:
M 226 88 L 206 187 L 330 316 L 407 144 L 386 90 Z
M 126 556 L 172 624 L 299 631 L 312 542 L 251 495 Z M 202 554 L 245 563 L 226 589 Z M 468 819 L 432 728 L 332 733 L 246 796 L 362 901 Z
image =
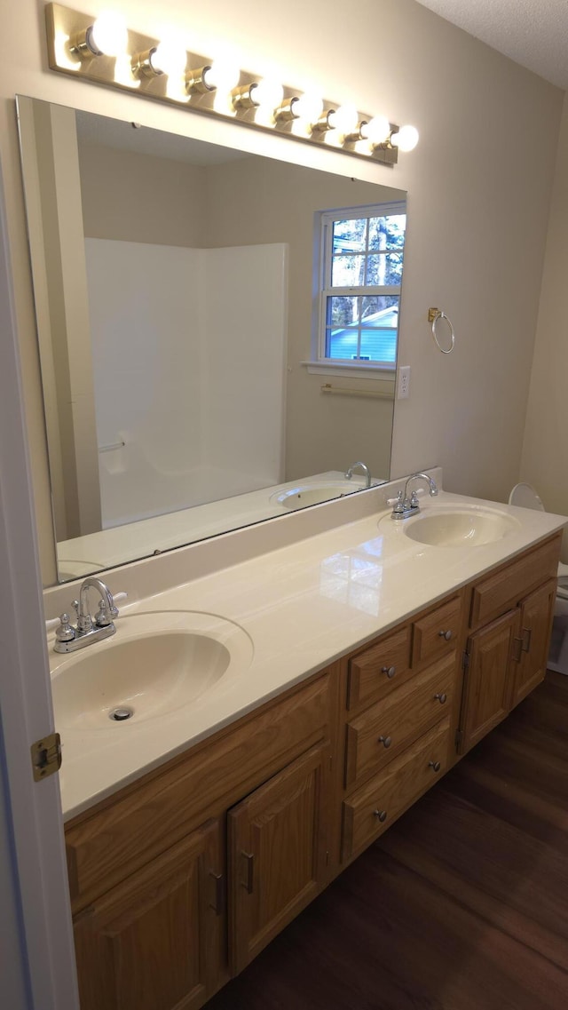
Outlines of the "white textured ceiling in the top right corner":
M 568 0 L 419 0 L 527 67 L 568 90 Z

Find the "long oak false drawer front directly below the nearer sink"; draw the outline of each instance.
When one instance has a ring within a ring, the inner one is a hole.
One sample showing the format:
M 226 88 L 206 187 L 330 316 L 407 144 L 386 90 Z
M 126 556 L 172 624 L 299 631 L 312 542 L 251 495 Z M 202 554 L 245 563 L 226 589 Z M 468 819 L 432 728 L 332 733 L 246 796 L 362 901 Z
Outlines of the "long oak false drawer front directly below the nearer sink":
M 329 673 L 266 706 L 91 817 L 66 827 L 74 911 L 218 815 L 329 734 Z

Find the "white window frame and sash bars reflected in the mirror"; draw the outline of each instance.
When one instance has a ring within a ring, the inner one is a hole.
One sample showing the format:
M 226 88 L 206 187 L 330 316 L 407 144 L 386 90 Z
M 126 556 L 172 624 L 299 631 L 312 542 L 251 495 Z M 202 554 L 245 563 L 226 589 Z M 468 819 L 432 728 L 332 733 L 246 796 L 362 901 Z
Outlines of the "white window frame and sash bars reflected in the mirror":
M 315 243 L 315 280 L 317 291 L 314 292 L 314 325 L 312 334 L 312 361 L 304 364 L 308 365 L 308 371 L 320 375 L 327 375 L 330 372 L 336 375 L 371 374 L 373 378 L 384 379 L 387 382 L 394 382 L 396 371 L 396 355 L 394 361 L 389 362 L 365 362 L 362 359 L 340 359 L 330 358 L 326 355 L 326 335 L 328 329 L 327 308 L 328 299 L 336 296 L 372 297 L 373 295 L 394 295 L 399 298 L 399 325 L 396 326 L 396 354 L 399 347 L 399 331 L 401 326 L 401 298 L 402 284 L 399 285 L 360 285 L 357 287 L 333 287 L 332 263 L 333 263 L 333 223 L 335 221 L 360 220 L 370 217 L 388 217 L 394 215 L 407 215 L 407 201 L 394 200 L 385 203 L 368 204 L 357 207 L 336 208 L 334 210 L 320 211 L 316 215 L 316 243 Z M 406 232 L 405 232 L 406 239 Z M 406 241 L 405 241 L 406 244 Z M 371 255 L 368 250 L 365 256 Z M 402 248 L 403 261 L 405 245 Z

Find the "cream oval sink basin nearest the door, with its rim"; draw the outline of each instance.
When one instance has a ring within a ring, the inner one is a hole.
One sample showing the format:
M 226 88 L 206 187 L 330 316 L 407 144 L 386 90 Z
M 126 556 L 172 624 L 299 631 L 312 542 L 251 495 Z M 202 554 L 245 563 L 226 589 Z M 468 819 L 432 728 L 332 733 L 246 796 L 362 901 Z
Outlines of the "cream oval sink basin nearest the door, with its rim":
M 55 728 L 124 732 L 179 711 L 220 681 L 242 674 L 252 655 L 247 633 L 215 614 L 180 610 L 119 617 L 112 638 L 65 656 L 52 654 Z

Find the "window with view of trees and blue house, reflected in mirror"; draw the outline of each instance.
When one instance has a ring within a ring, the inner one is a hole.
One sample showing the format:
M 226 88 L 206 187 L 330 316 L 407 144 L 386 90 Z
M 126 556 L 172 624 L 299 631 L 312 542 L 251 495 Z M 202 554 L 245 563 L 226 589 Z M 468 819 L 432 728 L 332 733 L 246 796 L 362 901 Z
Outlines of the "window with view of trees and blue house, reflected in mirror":
M 406 206 L 353 207 L 322 213 L 320 219 L 316 362 L 393 373 Z

